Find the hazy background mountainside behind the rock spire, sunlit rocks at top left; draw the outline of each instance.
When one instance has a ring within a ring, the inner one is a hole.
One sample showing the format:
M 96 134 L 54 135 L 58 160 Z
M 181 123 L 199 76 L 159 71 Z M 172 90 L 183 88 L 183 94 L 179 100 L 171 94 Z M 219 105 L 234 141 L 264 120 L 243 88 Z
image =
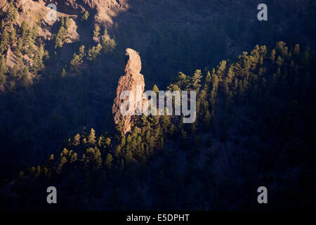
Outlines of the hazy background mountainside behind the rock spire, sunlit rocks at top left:
M 267 1 L 267 22 L 256 19 L 261 2 L 250 0 L 12 2 L 14 21 L 9 2 L 0 1 L 3 178 L 59 152 L 60 143 L 84 127 L 114 132 L 112 103 L 128 47 L 146 62 L 148 89 L 166 89 L 179 71 L 211 69 L 256 44 L 272 49 L 282 39 L 315 47 L 315 1 Z M 48 21 L 46 6 L 53 2 L 58 20 Z

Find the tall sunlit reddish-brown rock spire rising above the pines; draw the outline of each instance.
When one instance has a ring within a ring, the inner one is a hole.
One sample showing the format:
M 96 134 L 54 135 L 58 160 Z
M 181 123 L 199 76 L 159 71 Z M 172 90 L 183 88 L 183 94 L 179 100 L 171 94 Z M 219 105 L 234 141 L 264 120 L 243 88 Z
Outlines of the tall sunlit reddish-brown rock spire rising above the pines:
M 117 96 L 114 99 L 114 104 L 112 107 L 114 122 L 115 124 L 118 124 L 121 121 L 123 122 L 124 134 L 131 130 L 131 115 L 121 114 L 121 105 L 124 103 L 124 101 L 126 101 L 126 99 L 121 99 L 121 93 L 123 91 L 131 91 L 131 93 L 133 93 L 134 101 L 131 101 L 131 103 L 133 104 L 133 108 L 136 109 L 136 89 L 137 87 L 141 86 L 138 96 L 143 96 L 145 89 L 144 77 L 140 74 L 140 70 L 142 68 L 140 56 L 133 49 L 126 49 L 125 56 L 125 75 L 119 78 Z M 143 101 L 140 101 L 143 104 Z

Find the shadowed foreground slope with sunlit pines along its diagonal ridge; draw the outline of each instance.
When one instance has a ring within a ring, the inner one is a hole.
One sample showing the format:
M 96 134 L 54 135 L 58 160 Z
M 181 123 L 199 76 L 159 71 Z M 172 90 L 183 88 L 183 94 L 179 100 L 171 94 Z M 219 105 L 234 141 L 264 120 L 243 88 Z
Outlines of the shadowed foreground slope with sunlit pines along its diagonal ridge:
M 293 50 L 290 50 L 293 49 Z M 255 46 L 211 72 L 179 73 L 197 121 L 135 117 L 131 132 L 83 131 L 0 188 L 11 210 L 307 210 L 315 202 L 315 53 Z M 58 204 L 45 203 L 55 186 Z M 268 188 L 259 205 L 257 188 Z M 44 191 L 43 191 L 44 190 Z M 291 198 L 289 198 L 291 196 Z

